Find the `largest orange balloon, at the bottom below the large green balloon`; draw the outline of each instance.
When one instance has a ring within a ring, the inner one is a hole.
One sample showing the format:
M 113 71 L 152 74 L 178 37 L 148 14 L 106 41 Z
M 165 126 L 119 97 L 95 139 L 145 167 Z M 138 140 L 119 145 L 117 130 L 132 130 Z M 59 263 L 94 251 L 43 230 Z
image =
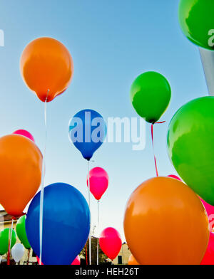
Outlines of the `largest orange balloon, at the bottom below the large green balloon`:
M 141 265 L 200 264 L 208 246 L 208 218 L 198 196 L 182 181 L 156 177 L 133 191 L 124 231 Z

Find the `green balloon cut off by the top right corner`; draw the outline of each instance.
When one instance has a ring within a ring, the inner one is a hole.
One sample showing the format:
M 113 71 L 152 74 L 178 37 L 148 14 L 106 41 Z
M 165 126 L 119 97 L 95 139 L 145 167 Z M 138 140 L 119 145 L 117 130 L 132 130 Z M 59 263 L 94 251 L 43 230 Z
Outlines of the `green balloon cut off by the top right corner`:
M 184 35 L 203 48 L 214 50 L 214 1 L 180 0 L 178 18 Z

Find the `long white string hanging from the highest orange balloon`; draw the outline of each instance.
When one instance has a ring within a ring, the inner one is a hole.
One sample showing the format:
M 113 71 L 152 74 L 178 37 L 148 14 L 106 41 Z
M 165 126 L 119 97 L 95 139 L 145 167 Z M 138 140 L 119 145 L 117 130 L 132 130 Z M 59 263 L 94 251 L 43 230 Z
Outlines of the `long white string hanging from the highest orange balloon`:
M 45 142 L 44 142 L 44 153 L 42 160 L 42 179 L 41 179 L 41 194 L 40 194 L 40 209 L 39 209 L 39 265 L 41 265 L 41 255 L 42 255 L 42 231 L 43 231 L 43 209 L 44 209 L 44 178 L 45 178 L 45 157 L 46 157 L 46 141 L 47 141 L 47 120 L 46 120 L 46 103 L 49 95 L 49 90 L 47 91 L 46 100 L 44 102 L 44 125 L 45 125 Z

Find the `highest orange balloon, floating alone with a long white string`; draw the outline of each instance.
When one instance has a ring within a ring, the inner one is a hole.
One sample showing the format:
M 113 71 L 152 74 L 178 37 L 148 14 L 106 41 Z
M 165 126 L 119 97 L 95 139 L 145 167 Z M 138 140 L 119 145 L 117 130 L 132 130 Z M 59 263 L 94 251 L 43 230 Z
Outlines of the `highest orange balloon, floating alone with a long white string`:
M 73 60 L 68 49 L 54 38 L 36 38 L 21 54 L 20 70 L 26 85 L 38 98 L 50 102 L 71 83 Z

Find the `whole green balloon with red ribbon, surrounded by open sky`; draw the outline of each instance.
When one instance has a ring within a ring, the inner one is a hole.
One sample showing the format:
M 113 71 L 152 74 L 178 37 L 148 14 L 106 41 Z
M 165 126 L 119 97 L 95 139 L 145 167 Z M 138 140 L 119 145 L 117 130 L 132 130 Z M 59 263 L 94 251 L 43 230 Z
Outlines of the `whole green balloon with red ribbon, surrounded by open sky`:
M 141 117 L 155 123 L 165 112 L 171 98 L 168 80 L 156 72 L 146 72 L 138 76 L 131 85 L 131 102 Z

